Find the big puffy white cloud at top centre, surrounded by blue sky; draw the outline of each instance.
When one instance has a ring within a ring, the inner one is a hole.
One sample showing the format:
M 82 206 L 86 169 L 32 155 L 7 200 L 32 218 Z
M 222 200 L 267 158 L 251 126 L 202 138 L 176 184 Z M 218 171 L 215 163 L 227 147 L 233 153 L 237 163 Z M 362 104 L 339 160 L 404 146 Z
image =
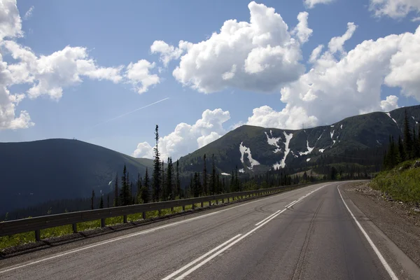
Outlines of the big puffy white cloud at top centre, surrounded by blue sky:
M 220 31 L 205 41 L 181 41 L 179 48 L 159 41 L 153 43 L 154 48 L 160 49 L 164 63 L 179 57 L 183 50 L 173 75 L 199 92 L 217 92 L 227 87 L 258 92 L 279 90 L 304 73 L 300 45 L 311 34 L 307 13 L 300 13 L 300 23 L 289 31 L 274 8 L 254 1 L 248 8 L 249 22 L 226 20 Z

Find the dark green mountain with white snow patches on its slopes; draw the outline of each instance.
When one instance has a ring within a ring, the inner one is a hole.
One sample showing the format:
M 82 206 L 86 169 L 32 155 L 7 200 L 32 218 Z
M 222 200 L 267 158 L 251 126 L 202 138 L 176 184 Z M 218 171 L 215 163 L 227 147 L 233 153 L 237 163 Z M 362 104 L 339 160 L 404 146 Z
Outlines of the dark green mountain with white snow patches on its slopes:
M 245 174 L 258 174 L 274 168 L 298 172 L 321 163 L 369 167 L 379 171 L 389 135 L 402 137 L 405 111 L 409 126 L 419 130 L 420 106 L 395 109 L 389 113 L 374 112 L 345 118 L 332 125 L 302 130 L 243 125 L 220 139 L 182 157 L 184 172 L 201 172 L 203 156 L 214 161 L 218 172 L 230 174 L 235 167 Z M 208 167 L 209 168 L 209 167 Z

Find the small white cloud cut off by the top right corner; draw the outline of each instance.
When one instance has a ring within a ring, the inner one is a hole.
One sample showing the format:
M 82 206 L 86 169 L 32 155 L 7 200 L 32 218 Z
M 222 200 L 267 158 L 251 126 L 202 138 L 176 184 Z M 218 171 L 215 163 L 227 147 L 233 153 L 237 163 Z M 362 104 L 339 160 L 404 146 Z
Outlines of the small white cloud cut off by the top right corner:
M 375 16 L 388 15 L 390 18 L 404 18 L 410 12 L 420 12 L 419 0 L 370 0 L 369 10 Z

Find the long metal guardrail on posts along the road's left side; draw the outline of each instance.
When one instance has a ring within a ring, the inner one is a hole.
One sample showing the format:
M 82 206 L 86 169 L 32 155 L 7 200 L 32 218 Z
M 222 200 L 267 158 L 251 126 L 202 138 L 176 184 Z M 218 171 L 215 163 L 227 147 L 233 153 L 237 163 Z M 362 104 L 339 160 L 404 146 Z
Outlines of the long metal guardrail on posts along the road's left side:
M 123 216 L 123 222 L 127 223 L 127 215 L 130 214 L 143 214 L 143 219 L 146 219 L 146 212 L 148 211 L 160 211 L 162 209 L 172 209 L 174 207 L 182 207 L 185 211 L 187 205 L 193 205 L 195 209 L 195 204 L 201 203 L 203 207 L 204 202 L 209 202 L 216 200 L 216 204 L 221 200 L 222 203 L 227 201 L 230 202 L 232 197 L 255 197 L 261 195 L 269 195 L 272 193 L 278 193 L 285 188 L 297 188 L 302 186 L 308 186 L 310 183 L 300 184 L 300 185 L 291 185 L 291 186 L 282 186 L 275 188 L 265 188 L 260 190 L 248 190 L 238 193 L 225 193 L 222 195 L 210 195 L 206 197 L 194 197 L 184 200 L 171 200 L 167 202 L 153 202 L 146 204 L 136 204 L 123 207 L 110 207 L 106 209 L 94 209 L 87 211 L 78 211 L 64 214 L 55 214 L 49 216 L 39 216 L 34 218 L 24 218 L 15 221 L 5 221 L 0 223 L 0 237 L 7 235 L 16 235 L 23 232 L 35 232 L 35 239 L 37 241 L 41 240 L 40 230 L 46 228 L 55 228 L 62 225 L 73 225 L 73 232 L 77 232 L 77 223 L 83 223 L 87 221 L 101 220 L 101 227 L 105 228 L 105 219 Z

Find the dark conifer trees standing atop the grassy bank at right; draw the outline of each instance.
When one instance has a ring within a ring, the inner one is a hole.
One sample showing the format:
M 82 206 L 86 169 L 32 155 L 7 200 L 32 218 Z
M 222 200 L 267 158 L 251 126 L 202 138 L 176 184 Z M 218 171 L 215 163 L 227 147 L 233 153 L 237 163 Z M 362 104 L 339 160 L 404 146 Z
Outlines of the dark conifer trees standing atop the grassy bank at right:
M 409 128 L 407 111 L 405 111 L 402 138 L 399 136 L 398 141 L 395 141 L 392 136 L 389 136 L 388 149 L 384 155 L 384 169 L 392 169 L 400 162 L 416 158 L 420 158 L 420 129 L 416 132 L 415 125 L 412 130 Z

